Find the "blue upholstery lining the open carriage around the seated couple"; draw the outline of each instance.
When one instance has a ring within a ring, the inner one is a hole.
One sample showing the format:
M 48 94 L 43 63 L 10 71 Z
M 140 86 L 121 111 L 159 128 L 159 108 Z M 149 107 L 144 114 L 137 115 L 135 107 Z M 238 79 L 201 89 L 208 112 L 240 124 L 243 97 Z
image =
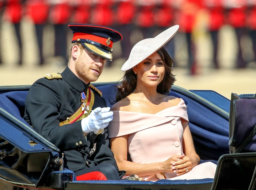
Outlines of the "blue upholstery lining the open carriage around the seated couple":
M 113 105 L 115 99 L 115 85 L 102 85 L 97 86 L 97 88 L 102 91 L 103 97 L 107 101 L 108 106 Z M 25 100 L 28 91 L 11 91 L 7 93 L 0 94 L 0 108 L 6 110 L 15 118 L 23 122 L 25 125 L 29 126 L 28 123 L 23 119 Z M 217 163 L 218 158 L 223 154 L 229 153 L 228 147 L 228 121 L 224 118 L 213 113 L 211 110 L 205 108 L 196 101 L 182 95 L 179 93 L 171 92 L 169 95 L 182 98 L 188 110 L 188 118 L 190 120 L 190 130 L 192 132 L 192 137 L 194 139 L 194 144 L 197 153 L 201 157 L 202 161 L 212 161 Z M 73 173 L 65 169 L 64 171 L 54 171 L 54 173 Z M 75 175 L 73 177 L 73 182 L 76 182 Z M 193 179 L 193 180 L 159 180 L 154 182 L 154 184 L 208 184 L 212 183 L 213 179 Z M 83 183 L 83 182 L 76 182 Z M 94 181 L 90 181 L 94 183 Z M 99 181 L 95 181 L 99 183 Z M 122 182 L 100 182 L 100 183 L 126 183 L 126 180 Z M 130 182 L 127 183 L 135 183 Z M 153 182 L 143 182 L 151 184 Z

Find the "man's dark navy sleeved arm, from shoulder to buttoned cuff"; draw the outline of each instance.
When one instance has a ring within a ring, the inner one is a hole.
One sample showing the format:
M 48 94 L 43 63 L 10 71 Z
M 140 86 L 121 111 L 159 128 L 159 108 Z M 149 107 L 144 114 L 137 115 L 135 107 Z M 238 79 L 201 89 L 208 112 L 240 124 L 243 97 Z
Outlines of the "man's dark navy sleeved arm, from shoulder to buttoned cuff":
M 60 149 L 84 146 L 86 141 L 81 121 L 59 126 L 60 112 L 66 111 L 60 110 L 60 93 L 64 93 L 61 88 L 61 85 L 56 85 L 55 82 L 46 79 L 35 82 L 26 99 L 24 119 L 33 126 L 36 132 Z

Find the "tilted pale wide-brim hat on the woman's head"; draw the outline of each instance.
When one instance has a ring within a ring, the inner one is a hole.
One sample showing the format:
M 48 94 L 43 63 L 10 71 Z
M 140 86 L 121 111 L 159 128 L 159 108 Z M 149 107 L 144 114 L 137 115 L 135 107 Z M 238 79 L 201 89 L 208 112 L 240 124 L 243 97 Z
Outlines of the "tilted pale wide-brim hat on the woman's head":
M 158 34 L 155 38 L 146 38 L 139 41 L 133 46 L 130 56 L 122 66 L 121 70 L 127 71 L 133 68 L 141 63 L 141 61 L 158 51 L 162 46 L 164 46 L 164 44 L 173 38 L 178 29 L 179 25 L 174 25 Z

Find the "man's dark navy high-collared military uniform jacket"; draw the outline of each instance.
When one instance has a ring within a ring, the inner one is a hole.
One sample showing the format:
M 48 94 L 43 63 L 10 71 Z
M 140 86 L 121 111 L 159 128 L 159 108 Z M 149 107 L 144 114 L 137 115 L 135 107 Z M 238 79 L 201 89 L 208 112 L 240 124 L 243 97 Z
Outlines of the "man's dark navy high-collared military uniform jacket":
M 78 171 L 87 167 L 109 163 L 118 169 L 113 152 L 109 148 L 107 128 L 104 134 L 90 132 L 87 140 L 83 136 L 81 120 L 59 126 L 59 123 L 74 114 L 81 106 L 81 93 L 86 95 L 89 84 L 82 82 L 67 67 L 62 79 L 41 78 L 31 87 L 26 98 L 24 119 L 34 130 L 45 137 L 61 153 L 64 152 L 64 167 Z M 92 107 L 107 107 L 105 99 L 94 93 Z M 96 152 L 90 150 L 96 143 Z

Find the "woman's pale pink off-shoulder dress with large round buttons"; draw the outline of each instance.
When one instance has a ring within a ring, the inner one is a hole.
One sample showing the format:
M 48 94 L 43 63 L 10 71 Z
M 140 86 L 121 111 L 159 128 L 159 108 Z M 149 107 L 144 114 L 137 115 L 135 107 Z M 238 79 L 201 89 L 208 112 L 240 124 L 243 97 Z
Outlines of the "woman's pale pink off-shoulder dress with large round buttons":
M 128 135 L 128 152 L 134 163 L 163 162 L 173 155 L 181 155 L 183 127 L 181 118 L 188 121 L 187 107 L 181 99 L 177 106 L 156 114 L 113 111 L 109 123 L 109 138 Z M 167 179 L 214 178 L 216 165 L 211 162 L 194 167 L 186 174 L 164 173 Z M 136 174 L 136 173 L 135 173 Z M 146 181 L 157 181 L 155 175 L 143 176 Z

